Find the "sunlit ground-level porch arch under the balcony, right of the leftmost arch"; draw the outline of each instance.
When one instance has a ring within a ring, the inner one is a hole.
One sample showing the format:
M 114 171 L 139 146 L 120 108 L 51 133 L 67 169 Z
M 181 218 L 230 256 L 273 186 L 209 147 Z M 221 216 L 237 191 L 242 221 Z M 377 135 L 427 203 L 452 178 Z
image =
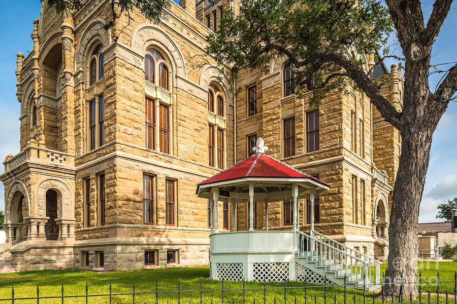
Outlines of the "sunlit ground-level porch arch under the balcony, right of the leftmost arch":
M 46 216 L 46 193 L 53 190 L 57 196 L 57 218 L 74 219 L 74 194 L 70 185 L 61 178 L 41 179 L 34 187 L 34 215 Z

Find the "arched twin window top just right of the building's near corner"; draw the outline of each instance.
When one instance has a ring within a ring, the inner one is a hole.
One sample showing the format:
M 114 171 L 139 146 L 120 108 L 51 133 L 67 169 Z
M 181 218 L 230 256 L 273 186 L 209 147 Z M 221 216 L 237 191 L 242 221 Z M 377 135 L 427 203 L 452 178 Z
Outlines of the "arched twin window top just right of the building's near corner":
M 169 66 L 164 56 L 155 49 L 148 49 L 144 56 L 144 79 L 161 87 L 169 89 Z M 158 77 L 155 77 L 158 75 Z

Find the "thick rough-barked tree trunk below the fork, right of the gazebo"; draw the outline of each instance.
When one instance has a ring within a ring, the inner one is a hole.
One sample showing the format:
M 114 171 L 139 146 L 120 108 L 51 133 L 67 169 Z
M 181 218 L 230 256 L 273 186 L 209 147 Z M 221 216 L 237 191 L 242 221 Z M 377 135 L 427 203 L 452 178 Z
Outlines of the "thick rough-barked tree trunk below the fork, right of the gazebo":
M 418 216 L 429 166 L 432 121 L 410 124 L 402 133 L 402 150 L 390 211 L 389 255 L 384 282 L 387 295 L 398 297 L 401 282 L 417 281 Z M 403 284 L 403 294 L 417 295 L 416 284 Z

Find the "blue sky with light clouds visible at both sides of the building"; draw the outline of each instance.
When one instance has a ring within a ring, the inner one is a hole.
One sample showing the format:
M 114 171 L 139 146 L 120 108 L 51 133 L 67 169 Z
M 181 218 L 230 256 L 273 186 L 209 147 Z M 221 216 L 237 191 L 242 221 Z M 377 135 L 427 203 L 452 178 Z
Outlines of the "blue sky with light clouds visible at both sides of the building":
M 432 10 L 432 0 L 422 2 L 426 18 Z M 16 99 L 16 53 L 27 56 L 32 49 L 30 33 L 33 20 L 40 18 L 40 0 L 17 3 L 5 1 L 0 10 L 0 159 L 19 152 L 19 102 Z M 18 13 L 20 12 L 20 13 Z M 455 3 L 434 45 L 432 64 L 457 61 L 457 3 Z M 390 66 L 389 62 L 387 66 Z M 435 88 L 440 77 L 432 77 L 430 87 Z M 435 221 L 437 205 L 457 197 L 457 102 L 450 102 L 433 136 L 430 166 L 420 205 L 420 222 Z M 3 165 L 0 172 L 4 171 Z M 3 184 L 0 183 L 0 193 Z M 0 210 L 4 200 L 0 200 Z

